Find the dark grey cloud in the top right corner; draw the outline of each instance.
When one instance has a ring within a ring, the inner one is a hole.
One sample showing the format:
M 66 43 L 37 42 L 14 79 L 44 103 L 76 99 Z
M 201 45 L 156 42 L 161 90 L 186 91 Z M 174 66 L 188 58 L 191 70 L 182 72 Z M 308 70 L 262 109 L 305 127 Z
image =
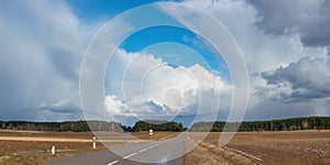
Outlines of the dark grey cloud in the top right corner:
M 298 31 L 310 46 L 330 45 L 330 0 L 250 0 L 266 33 Z

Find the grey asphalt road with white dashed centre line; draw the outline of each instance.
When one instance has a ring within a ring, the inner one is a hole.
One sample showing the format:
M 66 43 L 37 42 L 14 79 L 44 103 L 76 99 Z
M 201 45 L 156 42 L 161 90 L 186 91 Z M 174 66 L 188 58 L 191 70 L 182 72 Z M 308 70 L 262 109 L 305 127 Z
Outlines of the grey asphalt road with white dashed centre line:
M 135 143 L 127 146 L 79 154 L 56 160 L 48 165 L 145 165 L 145 164 L 183 164 L 185 135 L 167 141 Z

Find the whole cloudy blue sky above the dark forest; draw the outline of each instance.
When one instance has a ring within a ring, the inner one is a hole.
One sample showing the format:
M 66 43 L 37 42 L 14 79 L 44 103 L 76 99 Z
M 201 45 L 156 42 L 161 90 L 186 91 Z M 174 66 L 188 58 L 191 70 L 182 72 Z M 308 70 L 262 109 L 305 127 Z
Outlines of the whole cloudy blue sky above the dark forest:
M 220 22 L 240 47 L 250 85 L 244 120 L 330 114 L 330 1 L 170 1 L 194 10 L 160 2 L 166 1 L 2 1 L 0 120 L 133 124 L 158 119 L 185 125 L 227 120 L 238 90 L 237 66 L 189 29 L 200 12 Z M 130 15 L 144 4 L 158 8 Z M 132 33 L 148 21 L 186 28 L 157 25 Z M 221 33 L 212 22 L 199 21 L 208 29 L 200 32 Z M 226 45 L 226 38 L 217 40 Z M 105 50 L 95 57 L 109 57 L 107 51 L 117 47 L 111 58 L 96 63 L 107 65 L 105 73 L 92 73 L 103 76 L 105 90 L 98 96 L 102 110 L 90 113 L 81 106 L 79 81 L 92 44 Z

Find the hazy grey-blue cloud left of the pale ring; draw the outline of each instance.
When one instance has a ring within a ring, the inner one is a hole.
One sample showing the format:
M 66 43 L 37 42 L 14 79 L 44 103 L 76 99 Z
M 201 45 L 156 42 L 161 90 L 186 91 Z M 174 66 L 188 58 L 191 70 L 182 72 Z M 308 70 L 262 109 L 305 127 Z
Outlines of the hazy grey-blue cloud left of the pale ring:
M 0 22 L 0 120 L 47 118 L 37 105 L 78 94 L 78 21 L 62 1 L 13 0 Z

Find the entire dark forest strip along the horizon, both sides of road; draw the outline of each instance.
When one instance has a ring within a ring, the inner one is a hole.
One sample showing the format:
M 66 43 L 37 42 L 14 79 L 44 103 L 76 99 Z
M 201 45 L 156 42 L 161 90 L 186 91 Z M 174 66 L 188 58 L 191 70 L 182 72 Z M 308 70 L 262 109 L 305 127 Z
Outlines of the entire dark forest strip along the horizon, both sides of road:
M 226 122 L 197 122 L 188 128 L 191 132 L 221 132 Z M 234 123 L 233 123 L 234 124 Z M 176 131 L 186 130 L 183 123 L 166 121 L 138 121 L 134 127 L 122 125 L 118 122 L 107 121 L 64 121 L 64 122 L 29 122 L 29 121 L 0 121 L 0 129 L 24 131 L 117 131 L 140 132 L 148 131 Z M 238 131 L 294 131 L 294 130 L 330 130 L 330 117 L 290 118 L 271 121 L 243 121 Z

